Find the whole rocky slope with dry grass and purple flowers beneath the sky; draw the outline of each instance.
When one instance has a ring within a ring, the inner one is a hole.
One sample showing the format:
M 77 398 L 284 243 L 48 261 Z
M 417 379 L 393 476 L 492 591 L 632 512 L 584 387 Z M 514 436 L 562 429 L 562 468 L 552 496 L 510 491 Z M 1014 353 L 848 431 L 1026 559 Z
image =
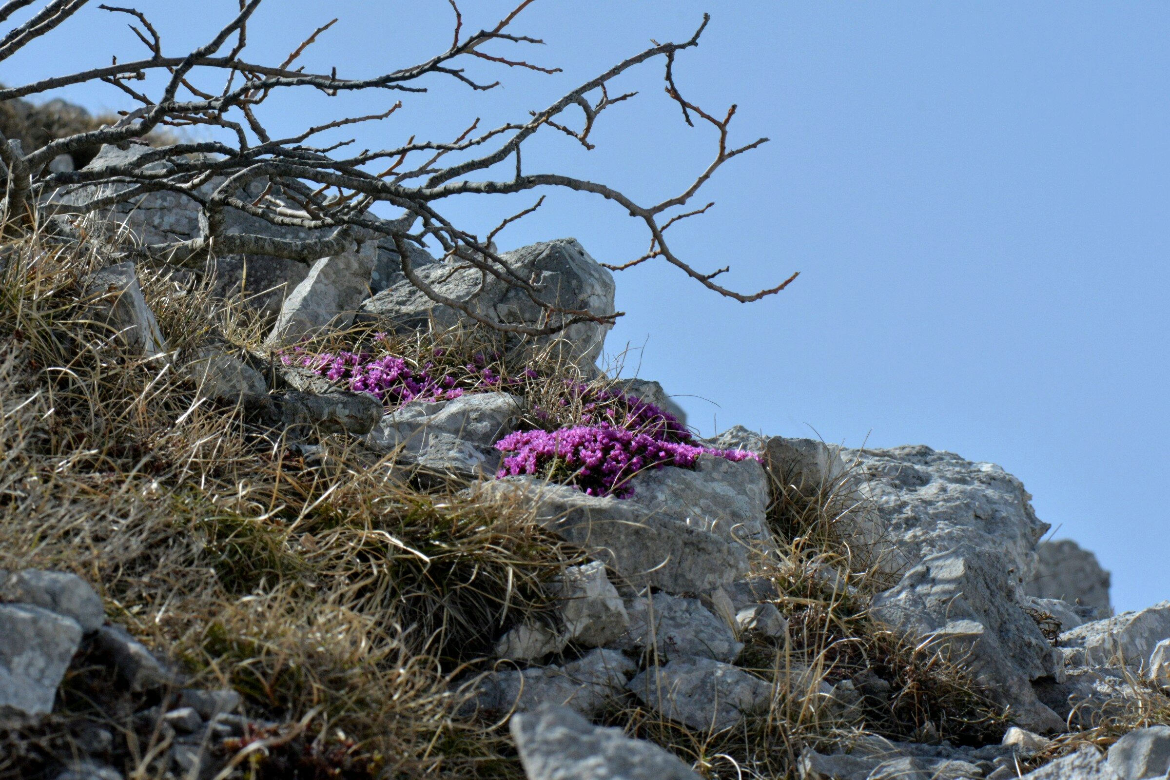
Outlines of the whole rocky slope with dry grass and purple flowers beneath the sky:
M 128 153 L 105 149 L 90 165 Z M 85 365 L 104 378 L 71 401 L 74 424 L 118 416 L 95 400 L 111 382 L 123 395 L 110 398 L 138 399 L 126 408 L 160 402 L 151 388 L 165 387 L 173 409 L 117 451 L 94 436 L 69 443 L 68 420 L 41 430 L 27 415 L 55 414 L 41 401 L 71 380 L 12 358 L 41 347 L 28 345 L 27 315 L 6 315 L 13 456 L 0 476 L 8 505 L 23 508 L 6 522 L 36 523 L 49 505 L 36 485 L 64 470 L 81 475 L 68 511 L 85 527 L 46 519 L 6 537 L 9 565 L 39 565 L 12 566 L 0 588 L 0 773 L 1128 780 L 1170 769 L 1170 602 L 1113 615 L 1108 573 L 1072 543 L 1041 541 L 1049 525 L 999 467 L 742 428 L 695 441 L 660 386 L 598 368 L 605 326 L 467 347 L 467 317 L 395 275 L 397 255 L 376 242 L 309 268 L 223 257 L 194 275 L 108 262 L 111 226 L 192 235 L 198 220 L 183 209 L 146 195 L 102 225 L 55 220 L 55 237 L 4 255 L 7 301 L 75 296 L 68 316 L 36 320 L 37 338 L 78 353 L 101 341 Z M 535 315 L 514 290 L 481 290 L 477 275 L 419 251 L 443 295 L 498 323 Z M 54 278 L 76 283 L 30 291 L 47 257 L 66 263 Z M 613 310 L 608 271 L 572 239 L 503 257 L 558 305 Z M 104 338 L 78 336 L 82 325 Z M 206 426 L 198 435 L 183 433 L 192 415 Z M 559 446 L 583 427 L 608 432 L 611 460 L 566 468 L 579 453 L 538 461 L 531 442 L 505 443 L 529 432 Z M 638 435 L 673 460 L 583 489 L 589 468 L 649 451 Z M 199 446 L 177 457 L 176 436 Z M 529 456 L 539 468 L 508 468 Z M 262 489 L 249 492 L 253 482 Z M 133 502 L 159 497 L 192 525 L 132 539 L 145 511 Z M 146 559 L 156 568 L 142 570 Z M 216 595 L 197 601 L 184 589 L 195 577 Z M 285 600 L 266 602 L 274 593 Z M 400 655 L 363 655 L 366 640 L 342 653 L 370 635 L 315 624 L 298 600 L 397 631 Z M 284 646 L 242 617 L 261 602 L 278 603 L 274 623 L 303 621 L 302 665 L 271 665 Z M 312 658 L 330 653 L 344 671 L 310 681 Z M 398 675 L 394 696 L 415 709 L 371 715 L 371 702 L 394 698 L 359 690 L 373 670 L 380 685 Z M 211 684 L 216 675 L 225 684 Z

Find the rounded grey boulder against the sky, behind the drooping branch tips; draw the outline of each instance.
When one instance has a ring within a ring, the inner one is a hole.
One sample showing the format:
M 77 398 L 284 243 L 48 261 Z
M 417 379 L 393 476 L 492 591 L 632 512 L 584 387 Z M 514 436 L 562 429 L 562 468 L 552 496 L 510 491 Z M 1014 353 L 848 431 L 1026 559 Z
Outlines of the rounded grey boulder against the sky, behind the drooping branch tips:
M 558 239 L 501 255 L 518 277 L 538 287 L 537 297 L 559 308 L 608 315 L 613 308 L 613 275 L 577 243 Z M 494 275 L 484 275 L 466 262 L 431 263 L 418 275 L 440 295 L 466 303 L 476 313 L 509 325 L 542 322 L 544 310 L 528 292 L 510 287 Z M 482 289 L 481 289 L 482 288 Z M 435 303 L 408 279 L 401 278 L 362 305 L 359 319 L 377 322 L 385 330 L 415 330 L 431 323 L 441 330 L 469 318 L 460 311 Z M 611 324 L 578 323 L 552 337 L 537 339 L 556 343 L 565 357 L 591 364 L 601 354 Z

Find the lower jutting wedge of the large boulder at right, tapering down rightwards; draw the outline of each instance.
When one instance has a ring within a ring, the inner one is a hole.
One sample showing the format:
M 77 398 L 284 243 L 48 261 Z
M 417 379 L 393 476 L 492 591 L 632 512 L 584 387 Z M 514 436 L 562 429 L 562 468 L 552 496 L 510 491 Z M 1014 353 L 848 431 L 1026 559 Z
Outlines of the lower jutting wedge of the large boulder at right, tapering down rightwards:
M 1059 653 L 1011 600 L 1002 559 L 963 545 L 924 559 L 894 588 L 874 596 L 870 616 L 915 640 L 930 637 L 963 658 L 1020 725 L 1059 731 L 1064 722 L 1037 698 L 1031 681 L 1060 674 Z

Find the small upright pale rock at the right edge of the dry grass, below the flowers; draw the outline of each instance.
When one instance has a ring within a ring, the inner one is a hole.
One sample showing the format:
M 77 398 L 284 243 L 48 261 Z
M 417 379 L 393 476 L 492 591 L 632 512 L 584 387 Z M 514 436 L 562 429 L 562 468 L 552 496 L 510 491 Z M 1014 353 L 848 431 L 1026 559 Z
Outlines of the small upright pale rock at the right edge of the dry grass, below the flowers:
M 605 647 L 629 626 L 626 606 L 601 561 L 570 566 L 552 585 L 567 639 L 586 647 Z

